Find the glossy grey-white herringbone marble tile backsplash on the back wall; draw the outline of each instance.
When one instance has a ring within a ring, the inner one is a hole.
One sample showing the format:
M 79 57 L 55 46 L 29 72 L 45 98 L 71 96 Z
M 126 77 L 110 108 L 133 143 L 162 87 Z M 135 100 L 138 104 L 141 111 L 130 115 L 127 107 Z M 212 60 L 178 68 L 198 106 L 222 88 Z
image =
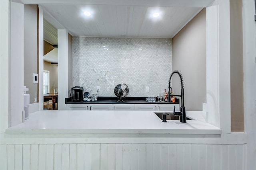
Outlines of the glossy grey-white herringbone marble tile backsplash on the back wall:
M 115 96 L 126 84 L 128 96 L 157 96 L 168 88 L 172 39 L 73 37 L 73 86 L 99 96 Z M 145 92 L 145 87 L 149 92 Z

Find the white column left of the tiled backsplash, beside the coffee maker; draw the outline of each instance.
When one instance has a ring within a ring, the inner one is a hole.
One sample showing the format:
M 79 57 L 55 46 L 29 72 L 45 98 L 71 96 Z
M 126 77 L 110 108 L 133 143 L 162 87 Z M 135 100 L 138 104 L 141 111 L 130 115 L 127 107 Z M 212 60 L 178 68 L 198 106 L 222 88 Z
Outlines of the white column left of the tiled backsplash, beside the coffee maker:
M 66 110 L 65 98 L 67 97 L 68 31 L 66 29 L 58 29 L 58 110 Z

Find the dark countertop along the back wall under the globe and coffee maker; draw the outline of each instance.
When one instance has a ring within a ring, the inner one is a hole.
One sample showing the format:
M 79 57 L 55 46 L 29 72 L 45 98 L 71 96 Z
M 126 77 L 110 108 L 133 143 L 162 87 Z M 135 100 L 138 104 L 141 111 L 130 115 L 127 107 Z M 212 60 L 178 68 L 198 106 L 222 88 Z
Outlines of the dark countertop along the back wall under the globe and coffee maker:
M 71 98 L 65 99 L 65 104 L 179 104 L 179 99 L 176 98 L 175 102 L 146 102 L 146 97 L 126 97 L 124 102 L 117 102 L 117 97 L 103 97 L 99 96 L 96 102 L 71 102 Z

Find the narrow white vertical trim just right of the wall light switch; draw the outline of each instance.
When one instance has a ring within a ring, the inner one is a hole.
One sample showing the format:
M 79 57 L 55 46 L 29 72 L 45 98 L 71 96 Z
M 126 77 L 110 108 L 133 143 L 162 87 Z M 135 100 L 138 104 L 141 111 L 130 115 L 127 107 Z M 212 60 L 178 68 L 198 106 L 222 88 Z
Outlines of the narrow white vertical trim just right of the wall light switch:
M 39 77 L 39 110 L 44 109 L 44 10 L 39 6 L 38 14 L 38 77 Z

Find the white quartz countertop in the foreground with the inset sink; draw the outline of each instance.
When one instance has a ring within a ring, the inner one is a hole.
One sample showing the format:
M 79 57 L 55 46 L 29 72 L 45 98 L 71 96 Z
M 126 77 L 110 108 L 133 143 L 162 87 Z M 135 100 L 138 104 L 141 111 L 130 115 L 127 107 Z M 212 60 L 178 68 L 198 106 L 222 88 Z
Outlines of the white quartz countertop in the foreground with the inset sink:
M 37 111 L 8 134 L 221 134 L 205 121 L 203 111 L 186 111 L 187 120 L 161 121 L 154 112 L 167 111 Z

